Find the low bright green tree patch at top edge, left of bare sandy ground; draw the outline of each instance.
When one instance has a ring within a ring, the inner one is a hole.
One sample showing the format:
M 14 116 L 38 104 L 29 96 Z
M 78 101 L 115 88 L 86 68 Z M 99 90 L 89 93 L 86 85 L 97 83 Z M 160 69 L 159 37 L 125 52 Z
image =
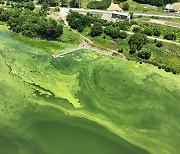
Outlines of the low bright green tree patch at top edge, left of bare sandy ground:
M 90 9 L 107 9 L 111 4 L 111 0 L 91 1 L 87 5 Z

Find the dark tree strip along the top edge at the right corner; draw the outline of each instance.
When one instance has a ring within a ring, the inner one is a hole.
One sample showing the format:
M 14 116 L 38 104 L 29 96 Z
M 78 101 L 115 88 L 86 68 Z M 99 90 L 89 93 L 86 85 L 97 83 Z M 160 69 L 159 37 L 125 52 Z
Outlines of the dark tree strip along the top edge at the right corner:
M 164 4 L 178 2 L 179 0 L 134 0 L 138 3 L 162 6 Z

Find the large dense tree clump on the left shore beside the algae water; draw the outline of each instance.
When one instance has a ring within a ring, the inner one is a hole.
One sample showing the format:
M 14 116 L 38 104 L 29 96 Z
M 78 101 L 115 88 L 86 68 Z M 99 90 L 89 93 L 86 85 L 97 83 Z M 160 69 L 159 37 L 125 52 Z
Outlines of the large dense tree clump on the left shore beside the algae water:
M 63 33 L 63 26 L 55 20 L 30 10 L 1 9 L 0 20 L 7 22 L 13 32 L 26 37 L 55 40 Z

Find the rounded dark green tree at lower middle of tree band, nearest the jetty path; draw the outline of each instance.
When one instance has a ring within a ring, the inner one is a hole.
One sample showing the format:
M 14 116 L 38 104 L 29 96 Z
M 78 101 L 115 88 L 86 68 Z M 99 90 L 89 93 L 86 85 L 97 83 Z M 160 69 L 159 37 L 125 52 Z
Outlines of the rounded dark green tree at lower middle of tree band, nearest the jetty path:
M 99 23 L 99 22 L 95 22 L 95 23 L 93 24 L 93 26 L 91 27 L 90 35 L 91 35 L 92 37 L 95 37 L 95 36 L 101 35 L 102 32 L 103 32 L 102 24 Z

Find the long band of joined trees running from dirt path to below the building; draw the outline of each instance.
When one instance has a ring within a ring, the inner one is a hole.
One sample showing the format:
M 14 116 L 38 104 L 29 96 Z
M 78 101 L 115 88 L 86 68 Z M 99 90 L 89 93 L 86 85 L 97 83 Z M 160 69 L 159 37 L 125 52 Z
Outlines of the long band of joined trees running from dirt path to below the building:
M 92 14 L 83 15 L 73 11 L 68 14 L 66 19 L 69 26 L 79 32 L 82 32 L 85 27 L 90 27 L 94 23 L 93 26 L 91 26 L 90 32 L 90 35 L 93 37 L 99 36 L 104 32 L 113 39 L 125 39 L 127 38 L 127 33 L 121 30 L 127 30 L 131 26 L 131 23 L 127 21 L 113 23 L 102 20 Z

